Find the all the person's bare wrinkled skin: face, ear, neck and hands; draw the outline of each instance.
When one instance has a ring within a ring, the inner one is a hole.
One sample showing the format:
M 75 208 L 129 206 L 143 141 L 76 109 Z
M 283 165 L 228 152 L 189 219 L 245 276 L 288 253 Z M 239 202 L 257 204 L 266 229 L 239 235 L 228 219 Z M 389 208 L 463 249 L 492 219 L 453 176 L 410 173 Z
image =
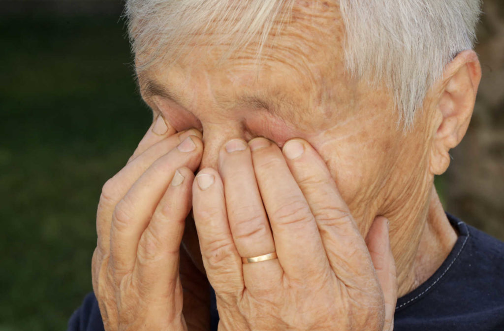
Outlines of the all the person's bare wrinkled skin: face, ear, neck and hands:
M 390 91 L 345 74 L 337 10 L 294 13 L 259 68 L 253 47 L 218 65 L 225 47 L 198 46 L 139 73 L 164 129 L 103 189 L 93 289 L 107 330 L 208 329 L 206 277 L 220 329 L 388 330 L 397 297 L 453 247 L 433 176 L 469 123 L 474 52 L 447 67 L 403 133 Z M 180 151 L 190 128 L 194 150 Z M 304 153 L 289 159 L 293 138 Z M 245 148 L 229 152 L 237 141 Z M 183 181 L 170 184 L 177 169 Z

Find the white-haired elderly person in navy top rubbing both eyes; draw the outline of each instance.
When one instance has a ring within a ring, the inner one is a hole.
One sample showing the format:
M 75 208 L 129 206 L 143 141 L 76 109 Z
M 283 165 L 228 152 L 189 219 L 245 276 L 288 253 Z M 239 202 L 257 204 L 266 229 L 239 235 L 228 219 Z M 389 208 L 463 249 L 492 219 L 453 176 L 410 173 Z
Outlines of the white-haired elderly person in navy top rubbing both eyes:
M 504 245 L 433 186 L 473 112 L 478 0 L 127 15 L 154 121 L 103 187 L 69 329 L 504 329 Z

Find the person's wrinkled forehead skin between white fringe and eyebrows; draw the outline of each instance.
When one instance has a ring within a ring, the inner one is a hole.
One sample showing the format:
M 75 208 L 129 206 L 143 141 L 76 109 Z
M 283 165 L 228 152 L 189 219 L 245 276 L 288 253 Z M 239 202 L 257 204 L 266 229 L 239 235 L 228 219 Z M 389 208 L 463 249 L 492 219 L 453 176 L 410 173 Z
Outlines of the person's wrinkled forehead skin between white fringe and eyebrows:
M 310 127 L 323 126 L 344 110 L 339 101 L 354 94 L 344 72 L 339 9 L 297 2 L 288 22 L 273 22 L 271 31 L 259 58 L 260 40 L 230 53 L 232 39 L 217 43 L 217 32 L 192 39 L 176 61 L 139 73 L 144 96 L 165 91 L 186 108 L 209 100 L 224 109 L 255 104 L 300 126 L 306 119 Z

